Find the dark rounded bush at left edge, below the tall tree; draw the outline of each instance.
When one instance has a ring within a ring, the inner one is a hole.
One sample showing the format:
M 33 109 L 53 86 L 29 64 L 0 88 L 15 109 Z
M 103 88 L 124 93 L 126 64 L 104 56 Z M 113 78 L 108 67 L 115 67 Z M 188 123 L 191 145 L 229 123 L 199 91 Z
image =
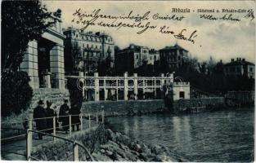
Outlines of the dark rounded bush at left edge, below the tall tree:
M 29 107 L 33 90 L 29 86 L 29 76 L 25 72 L 3 71 L 1 77 L 1 114 L 10 116 L 12 112 L 19 114 Z

